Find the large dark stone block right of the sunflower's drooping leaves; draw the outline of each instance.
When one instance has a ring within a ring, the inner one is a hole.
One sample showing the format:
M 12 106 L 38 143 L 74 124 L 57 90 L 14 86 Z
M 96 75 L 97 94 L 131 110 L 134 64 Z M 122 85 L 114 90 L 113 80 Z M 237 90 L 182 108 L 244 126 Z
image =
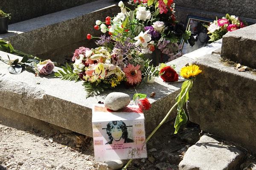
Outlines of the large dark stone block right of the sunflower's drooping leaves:
M 209 54 L 189 94 L 189 118 L 202 130 L 256 152 L 256 74 L 239 72 Z

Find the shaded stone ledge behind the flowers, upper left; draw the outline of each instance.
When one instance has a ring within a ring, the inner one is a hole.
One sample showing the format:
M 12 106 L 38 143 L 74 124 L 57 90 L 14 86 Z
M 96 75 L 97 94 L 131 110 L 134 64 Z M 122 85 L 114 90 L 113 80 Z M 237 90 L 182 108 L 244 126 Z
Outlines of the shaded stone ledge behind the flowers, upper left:
M 97 0 L 11 24 L 9 33 L 1 34 L 0 39 L 10 41 L 17 50 L 63 63 L 65 56 L 72 56 L 79 46 L 93 48 L 93 40 L 86 40 L 86 35 L 101 33 L 93 29 L 95 21 L 119 10 L 113 0 Z

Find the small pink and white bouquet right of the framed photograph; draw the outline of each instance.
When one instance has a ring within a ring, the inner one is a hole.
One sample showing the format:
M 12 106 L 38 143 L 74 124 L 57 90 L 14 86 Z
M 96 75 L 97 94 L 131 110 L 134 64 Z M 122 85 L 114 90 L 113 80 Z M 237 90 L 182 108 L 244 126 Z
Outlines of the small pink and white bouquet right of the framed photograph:
M 226 17 L 221 19 L 216 18 L 209 26 L 205 26 L 208 29 L 210 37 L 209 41 L 217 41 L 221 39 L 227 32 L 235 31 L 247 26 L 247 23 L 240 20 L 235 15 L 226 14 Z

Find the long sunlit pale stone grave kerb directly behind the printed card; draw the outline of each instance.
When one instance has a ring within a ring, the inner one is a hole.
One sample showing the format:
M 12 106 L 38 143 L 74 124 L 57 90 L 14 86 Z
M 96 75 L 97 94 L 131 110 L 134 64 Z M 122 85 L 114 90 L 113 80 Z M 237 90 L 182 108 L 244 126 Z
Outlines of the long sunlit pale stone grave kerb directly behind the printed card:
M 7 59 L 7 53 L 0 51 L 0 56 Z M 9 54 L 11 59 L 20 58 Z M 184 60 L 184 59 L 183 59 Z M 177 62 L 177 61 L 175 61 Z M 179 60 L 180 65 L 188 61 Z M 177 64 L 177 63 L 176 63 Z M 181 66 L 180 66 L 181 67 Z M 87 136 L 92 136 L 92 105 L 103 102 L 113 92 L 123 92 L 132 96 L 134 88 L 122 87 L 86 99 L 82 82 L 63 81 L 54 77 L 35 77 L 34 73 L 23 71 L 22 74 L 9 74 L 8 65 L 0 62 L 0 107 L 39 119 L 59 127 L 66 128 Z M 57 69 L 57 68 L 56 68 Z M 166 84 L 157 78 L 153 84 L 141 84 L 138 93 L 155 92 L 150 111 L 145 112 L 145 129 L 147 133 L 156 127 L 175 103 L 180 92 L 181 83 Z M 176 117 L 176 111 L 170 119 Z

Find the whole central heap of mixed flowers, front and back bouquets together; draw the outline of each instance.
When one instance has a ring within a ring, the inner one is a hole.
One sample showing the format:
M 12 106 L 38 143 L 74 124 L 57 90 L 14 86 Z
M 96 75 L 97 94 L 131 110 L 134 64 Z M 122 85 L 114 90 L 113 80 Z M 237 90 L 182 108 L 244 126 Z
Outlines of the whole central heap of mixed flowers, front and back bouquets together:
M 120 13 L 113 18 L 106 17 L 105 22 L 97 20 L 94 28 L 102 33 L 108 31 L 108 35 L 87 34 L 88 40 L 99 38 L 96 41 L 99 47 L 76 49 L 72 59 L 74 69 L 67 65 L 55 76 L 83 80 L 87 97 L 105 88 L 115 88 L 122 82 L 131 87 L 139 85 L 143 78 L 158 76 L 166 65 L 154 67 L 144 54 L 158 48 L 169 57 L 178 56 L 179 43 L 182 38 L 188 40 L 190 32 L 175 20 L 173 0 L 132 0 L 129 3 L 135 10 L 120 1 Z

